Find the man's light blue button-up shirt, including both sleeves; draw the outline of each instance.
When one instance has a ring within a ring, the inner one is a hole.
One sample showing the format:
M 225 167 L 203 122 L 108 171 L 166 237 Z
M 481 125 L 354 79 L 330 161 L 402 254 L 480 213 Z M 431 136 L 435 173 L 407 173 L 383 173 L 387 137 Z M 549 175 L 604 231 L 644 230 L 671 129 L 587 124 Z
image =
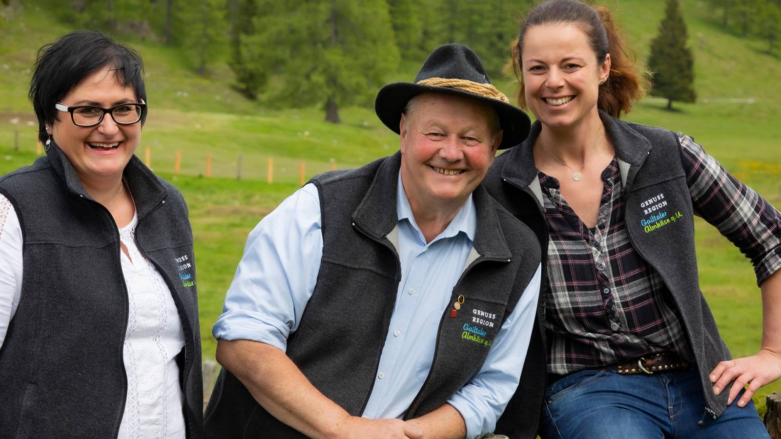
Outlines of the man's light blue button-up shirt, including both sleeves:
M 437 328 L 472 249 L 477 215 L 472 196 L 448 227 L 426 243 L 401 177 L 396 198 L 401 282 L 374 387 L 363 416 L 400 418 L 423 387 Z M 218 340 L 247 339 L 283 351 L 315 289 L 323 236 L 317 188 L 307 184 L 251 231 L 212 328 Z M 540 288 L 540 267 L 499 330 L 480 373 L 448 401 L 463 416 L 467 437 L 494 430 L 518 387 Z

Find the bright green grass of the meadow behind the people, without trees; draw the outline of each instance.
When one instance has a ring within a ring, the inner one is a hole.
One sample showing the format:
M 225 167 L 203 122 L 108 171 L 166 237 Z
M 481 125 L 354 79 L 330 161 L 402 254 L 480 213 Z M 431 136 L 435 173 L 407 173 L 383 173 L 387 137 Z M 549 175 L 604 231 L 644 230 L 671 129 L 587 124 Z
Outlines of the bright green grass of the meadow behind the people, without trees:
M 627 39 L 643 58 L 663 13 L 663 2 L 610 0 L 627 32 Z M 683 1 L 690 46 L 697 62 L 697 92 L 708 102 L 676 104 L 647 99 L 626 117 L 683 131 L 736 177 L 754 187 L 773 205 L 781 205 L 781 60 L 765 55 L 763 41 L 722 32 L 707 18 L 704 2 Z M 0 174 L 35 159 L 34 123 L 27 102 L 27 81 L 35 51 L 71 30 L 46 12 L 28 8 L 13 11 L 0 27 Z M 230 87 L 224 63 L 209 77 L 184 68 L 186 60 L 175 48 L 143 41 L 127 41 L 147 65 L 148 123 L 139 155 L 152 155 L 152 168 L 176 184 L 190 206 L 198 263 L 198 295 L 204 359 L 213 359 L 216 342 L 212 323 L 219 316 L 226 288 L 252 227 L 298 187 L 299 162 L 307 177 L 329 170 L 359 166 L 398 148 L 398 136 L 377 120 L 373 110 L 341 109 L 341 125 L 323 122 L 317 108 L 274 109 L 248 102 Z M 406 63 L 390 80 L 412 80 L 418 66 Z M 494 78 L 512 95 L 512 80 Z M 752 103 L 725 99 L 753 98 Z M 32 123 L 32 125 L 30 125 Z M 15 152 L 14 133 L 20 150 Z M 176 151 L 182 154 L 181 174 L 173 177 Z M 212 173 L 203 177 L 206 155 Z M 238 155 L 243 180 L 237 181 Z M 266 163 L 273 157 L 274 184 L 266 183 Z M 751 355 L 761 341 L 761 296 L 751 263 L 729 241 L 697 219 L 697 257 L 701 286 L 711 304 L 733 355 Z M 781 383 L 759 392 L 781 391 Z M 756 398 L 755 398 L 756 399 Z M 761 402 L 764 405 L 764 400 Z

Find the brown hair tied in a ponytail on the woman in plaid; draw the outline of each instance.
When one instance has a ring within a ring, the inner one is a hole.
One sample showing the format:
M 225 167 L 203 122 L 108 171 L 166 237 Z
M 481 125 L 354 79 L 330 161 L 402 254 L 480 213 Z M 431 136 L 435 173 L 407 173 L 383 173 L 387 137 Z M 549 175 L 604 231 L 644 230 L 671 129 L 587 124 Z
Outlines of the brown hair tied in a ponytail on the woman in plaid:
M 521 52 L 523 37 L 530 27 L 547 23 L 574 23 L 583 30 L 589 44 L 602 63 L 610 54 L 610 76 L 599 86 L 597 108 L 610 116 L 620 117 L 632 109 L 633 101 L 642 98 L 648 87 L 647 70 L 638 65 L 634 52 L 624 43 L 610 10 L 604 6 L 589 6 L 576 0 L 548 0 L 526 14 L 521 23 L 518 43 L 513 48 L 515 76 L 522 72 Z M 638 73 L 643 73 L 641 75 Z M 526 108 L 523 81 L 518 93 L 518 104 Z

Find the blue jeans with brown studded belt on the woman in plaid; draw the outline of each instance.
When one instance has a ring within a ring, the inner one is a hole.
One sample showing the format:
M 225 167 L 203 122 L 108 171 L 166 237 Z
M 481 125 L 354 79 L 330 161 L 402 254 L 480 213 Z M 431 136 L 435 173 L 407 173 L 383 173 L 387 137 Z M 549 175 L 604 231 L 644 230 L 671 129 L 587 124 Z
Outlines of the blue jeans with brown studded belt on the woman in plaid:
M 742 391 L 741 391 L 742 394 Z M 540 436 L 544 439 L 765 438 L 769 434 L 749 402 L 735 398 L 722 416 L 704 416 L 700 377 L 694 370 L 619 375 L 583 370 L 545 391 Z M 703 421 L 698 425 L 699 421 Z

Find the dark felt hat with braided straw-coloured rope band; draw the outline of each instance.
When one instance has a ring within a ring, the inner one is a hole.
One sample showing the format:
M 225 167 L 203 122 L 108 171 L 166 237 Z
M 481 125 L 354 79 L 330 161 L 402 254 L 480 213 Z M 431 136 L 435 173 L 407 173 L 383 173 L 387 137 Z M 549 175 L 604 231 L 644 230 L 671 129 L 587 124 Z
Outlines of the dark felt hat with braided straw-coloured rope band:
M 374 110 L 394 133 L 399 133 L 401 112 L 407 102 L 420 93 L 449 93 L 475 98 L 493 105 L 499 116 L 502 134 L 499 149 L 518 145 L 529 134 L 529 116 L 490 84 L 483 62 L 465 45 L 441 45 L 435 48 L 415 82 L 387 84 L 377 93 Z

